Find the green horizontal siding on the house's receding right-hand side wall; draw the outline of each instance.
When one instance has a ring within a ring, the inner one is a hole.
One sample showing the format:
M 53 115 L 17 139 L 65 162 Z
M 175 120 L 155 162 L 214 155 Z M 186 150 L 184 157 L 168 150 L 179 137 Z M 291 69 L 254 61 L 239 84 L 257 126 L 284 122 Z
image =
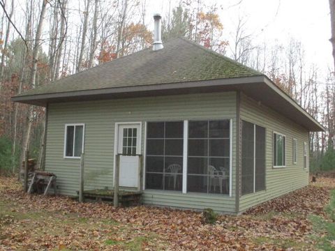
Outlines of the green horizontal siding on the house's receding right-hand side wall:
M 286 119 L 272 109 L 241 96 L 241 119 L 266 128 L 266 189 L 240 198 L 240 211 L 274 197 L 308 185 L 308 169 L 304 170 L 304 142 L 308 144 L 308 130 Z M 286 167 L 274 168 L 272 158 L 273 132 L 286 136 Z M 297 164 L 292 161 L 292 139 L 297 139 Z M 309 166 L 309 162 L 307 162 Z

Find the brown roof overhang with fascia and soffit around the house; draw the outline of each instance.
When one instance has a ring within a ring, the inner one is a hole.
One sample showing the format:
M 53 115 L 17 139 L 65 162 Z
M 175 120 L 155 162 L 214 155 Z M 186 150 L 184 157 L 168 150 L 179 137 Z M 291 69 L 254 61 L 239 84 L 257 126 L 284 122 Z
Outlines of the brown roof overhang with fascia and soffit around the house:
M 214 79 L 198 82 L 150 84 L 107 89 L 45 93 L 30 96 L 15 96 L 14 102 L 46 106 L 50 102 L 73 102 L 116 98 L 136 98 L 145 96 L 166 96 L 186 93 L 209 93 L 217 91 L 242 91 L 263 105 L 283 114 L 309 131 L 324 131 L 318 121 L 300 107 L 295 100 L 283 92 L 265 75 Z

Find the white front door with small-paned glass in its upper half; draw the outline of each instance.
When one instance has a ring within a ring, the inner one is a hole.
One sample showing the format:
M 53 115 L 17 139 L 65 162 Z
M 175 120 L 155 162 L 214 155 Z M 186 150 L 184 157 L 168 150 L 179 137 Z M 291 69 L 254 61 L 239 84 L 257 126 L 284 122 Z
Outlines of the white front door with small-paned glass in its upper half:
M 141 126 L 140 123 L 118 125 L 117 153 L 120 156 L 119 186 L 137 188 L 139 184 L 141 153 Z

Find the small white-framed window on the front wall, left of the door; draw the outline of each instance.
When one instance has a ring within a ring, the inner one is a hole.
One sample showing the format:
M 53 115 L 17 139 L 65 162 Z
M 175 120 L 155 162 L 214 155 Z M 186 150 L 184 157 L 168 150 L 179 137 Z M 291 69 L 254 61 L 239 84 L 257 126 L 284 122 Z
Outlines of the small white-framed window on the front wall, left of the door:
M 65 126 L 64 158 L 80 158 L 84 152 L 84 124 Z

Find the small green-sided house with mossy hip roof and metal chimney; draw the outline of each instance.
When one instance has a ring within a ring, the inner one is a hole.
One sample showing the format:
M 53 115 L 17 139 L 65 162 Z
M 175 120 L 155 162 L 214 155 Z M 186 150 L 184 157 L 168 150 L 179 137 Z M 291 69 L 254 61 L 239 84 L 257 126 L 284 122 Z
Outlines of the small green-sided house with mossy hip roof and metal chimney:
M 320 123 L 262 73 L 155 27 L 152 49 L 13 97 L 47 109 L 59 192 L 76 195 L 82 152 L 85 190 L 113 188 L 119 154 L 119 185 L 147 205 L 238 214 L 308 185 Z

